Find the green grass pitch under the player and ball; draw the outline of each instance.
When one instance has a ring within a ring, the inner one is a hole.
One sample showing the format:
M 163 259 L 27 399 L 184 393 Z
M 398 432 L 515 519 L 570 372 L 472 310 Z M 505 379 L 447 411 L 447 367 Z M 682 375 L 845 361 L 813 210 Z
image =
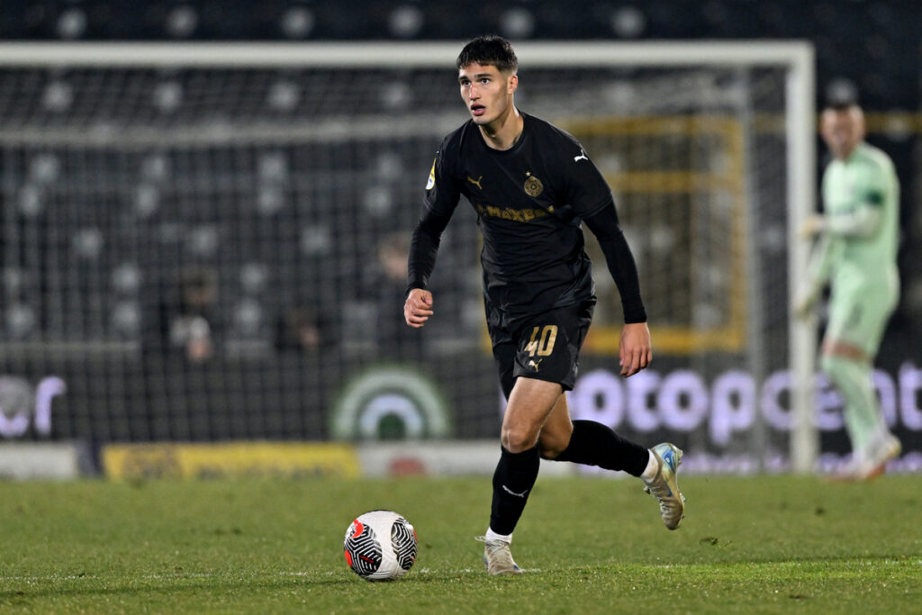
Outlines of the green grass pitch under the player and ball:
M 538 479 L 518 577 L 488 577 L 490 479 L 0 482 L 0 612 L 601 613 L 922 610 L 922 476 L 680 477 L 675 532 L 635 479 Z M 420 552 L 368 583 L 352 518 Z

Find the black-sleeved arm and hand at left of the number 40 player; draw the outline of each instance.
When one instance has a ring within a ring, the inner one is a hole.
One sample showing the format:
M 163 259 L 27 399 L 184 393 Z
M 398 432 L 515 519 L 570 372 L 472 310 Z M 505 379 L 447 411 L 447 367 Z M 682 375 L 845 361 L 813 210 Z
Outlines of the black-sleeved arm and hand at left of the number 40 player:
M 404 302 L 404 319 L 407 325 L 420 328 L 432 315 L 432 293 L 427 289 L 429 277 L 435 267 L 442 233 L 457 207 L 460 191 L 455 180 L 453 162 L 456 151 L 450 146 L 449 136 L 435 154 L 420 221 L 413 230 L 407 264 L 407 301 Z

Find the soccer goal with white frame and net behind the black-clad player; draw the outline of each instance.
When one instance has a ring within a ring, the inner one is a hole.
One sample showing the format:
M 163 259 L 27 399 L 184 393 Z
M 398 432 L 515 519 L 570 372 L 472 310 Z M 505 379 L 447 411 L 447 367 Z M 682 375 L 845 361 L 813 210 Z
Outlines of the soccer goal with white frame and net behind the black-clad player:
M 466 204 L 438 256 L 436 317 L 402 325 L 432 156 L 467 119 L 458 49 L 5 45 L 0 431 L 495 437 Z M 599 302 L 574 417 L 668 437 L 704 469 L 783 467 L 788 451 L 809 468 L 814 340 L 787 306 L 806 260 L 789 229 L 815 189 L 811 48 L 518 51 L 519 108 L 579 138 L 611 185 L 654 337 L 654 366 L 621 380 L 620 302 L 590 238 Z

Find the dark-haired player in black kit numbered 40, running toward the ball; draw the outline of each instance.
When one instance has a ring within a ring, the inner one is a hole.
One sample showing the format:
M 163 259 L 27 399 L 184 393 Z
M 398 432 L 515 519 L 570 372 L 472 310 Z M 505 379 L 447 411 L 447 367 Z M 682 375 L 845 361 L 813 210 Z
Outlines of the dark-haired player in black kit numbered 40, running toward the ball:
M 407 324 L 425 325 L 439 241 L 465 195 L 483 234 L 484 302 L 493 357 L 508 403 L 493 475 L 484 562 L 490 574 L 519 574 L 509 545 L 538 478 L 540 458 L 624 470 L 644 479 L 675 529 L 684 512 L 676 481 L 682 452 L 647 450 L 590 420 L 570 420 L 579 349 L 596 303 L 581 223 L 596 235 L 621 293 L 621 374 L 652 358 L 637 269 L 608 184 L 573 136 L 515 108 L 518 61 L 500 37 L 467 43 L 457 59 L 471 119 L 445 137 L 408 262 Z

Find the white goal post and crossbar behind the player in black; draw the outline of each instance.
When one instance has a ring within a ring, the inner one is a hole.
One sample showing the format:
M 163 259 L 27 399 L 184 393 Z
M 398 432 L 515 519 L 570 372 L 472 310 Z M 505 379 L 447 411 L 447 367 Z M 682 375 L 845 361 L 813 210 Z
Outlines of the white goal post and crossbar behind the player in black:
M 0 68 L 377 68 L 454 66 L 463 41 L 452 42 L 326 42 L 326 43 L 32 43 L 0 44 Z M 784 126 L 786 177 L 786 250 L 789 296 L 806 270 L 809 246 L 798 239 L 798 226 L 815 209 L 816 111 L 814 50 L 808 41 L 700 42 L 522 42 L 515 45 L 528 69 L 580 67 L 766 67 L 785 71 Z M 441 86 L 440 86 L 441 87 Z M 9 128 L 7 126 L 7 128 Z M 430 127 L 431 128 L 431 127 Z M 316 130 L 323 131 L 323 126 Z M 440 126 L 441 129 L 441 126 Z M 333 131 L 336 128 L 329 128 Z M 271 133 L 270 133 L 271 134 Z M 65 135 L 67 141 L 73 134 Z M 46 137 L 34 128 L 0 130 L 6 143 L 30 143 Z M 79 136 L 77 136 L 79 138 Z M 97 138 L 91 136 L 88 138 Z M 101 138 L 117 138 L 103 136 Z M 150 136 L 156 140 L 156 136 Z M 278 138 L 286 138 L 278 134 Z M 814 323 L 791 318 L 788 325 L 788 365 L 793 375 L 790 405 L 790 458 L 795 471 L 812 471 L 818 455 L 813 422 Z

